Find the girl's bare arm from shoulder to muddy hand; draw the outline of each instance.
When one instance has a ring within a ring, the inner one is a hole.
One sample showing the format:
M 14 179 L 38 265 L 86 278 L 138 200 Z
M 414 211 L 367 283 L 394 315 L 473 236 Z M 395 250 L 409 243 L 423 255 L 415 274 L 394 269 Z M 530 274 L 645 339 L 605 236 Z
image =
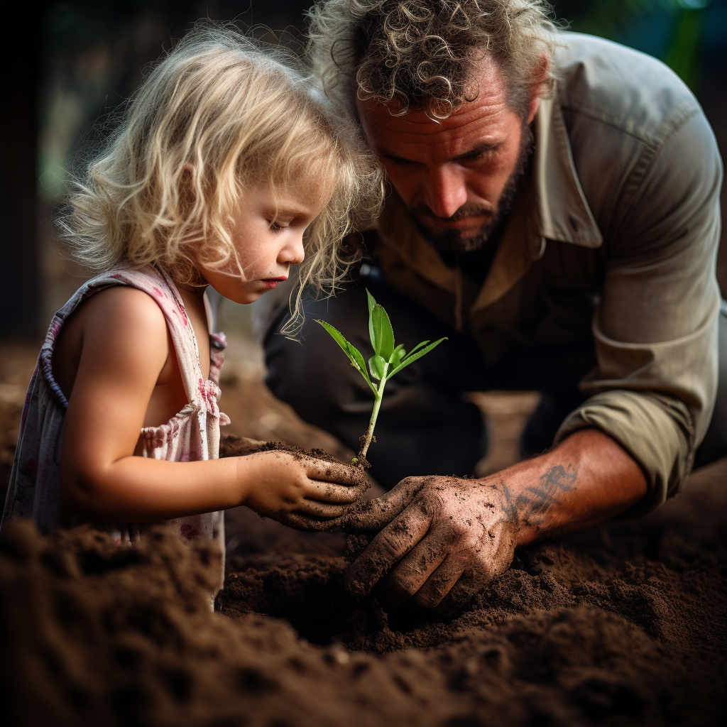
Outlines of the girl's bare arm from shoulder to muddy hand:
M 164 388 L 179 383 L 164 315 L 144 292 L 115 286 L 92 297 L 79 316 L 81 352 L 60 454 L 72 510 L 161 521 L 249 505 L 265 515 L 333 518 L 358 496 L 350 487 L 361 483 L 358 470 L 282 452 L 207 462 L 132 456 L 155 388 L 164 400 Z

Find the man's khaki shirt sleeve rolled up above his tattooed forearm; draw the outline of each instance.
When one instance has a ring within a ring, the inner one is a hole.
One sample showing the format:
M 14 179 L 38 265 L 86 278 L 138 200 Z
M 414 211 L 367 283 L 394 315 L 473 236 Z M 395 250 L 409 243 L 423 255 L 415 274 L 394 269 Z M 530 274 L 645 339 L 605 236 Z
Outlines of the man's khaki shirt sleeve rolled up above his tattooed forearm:
M 556 443 L 598 427 L 638 462 L 648 494 L 630 515 L 675 494 L 712 416 L 718 379 L 722 164 L 701 111 L 646 145 L 622 191 L 617 233 L 593 318 L 598 366 L 589 398 Z

